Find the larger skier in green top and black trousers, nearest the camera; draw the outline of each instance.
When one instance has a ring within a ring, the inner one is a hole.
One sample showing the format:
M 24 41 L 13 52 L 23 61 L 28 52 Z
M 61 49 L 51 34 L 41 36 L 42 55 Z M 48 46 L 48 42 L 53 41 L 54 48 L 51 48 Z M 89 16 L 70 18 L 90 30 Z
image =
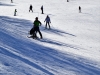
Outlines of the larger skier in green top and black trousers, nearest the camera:
M 33 38 L 34 38 L 34 37 L 37 37 L 37 36 L 36 36 L 36 33 L 39 32 L 40 38 L 42 39 L 42 38 L 43 38 L 43 37 L 42 37 L 42 33 L 40 32 L 40 29 L 39 29 L 39 26 L 41 25 L 41 22 L 38 20 L 38 17 L 35 18 L 35 21 L 34 21 L 33 25 L 34 25 L 34 29 L 33 29 Z

